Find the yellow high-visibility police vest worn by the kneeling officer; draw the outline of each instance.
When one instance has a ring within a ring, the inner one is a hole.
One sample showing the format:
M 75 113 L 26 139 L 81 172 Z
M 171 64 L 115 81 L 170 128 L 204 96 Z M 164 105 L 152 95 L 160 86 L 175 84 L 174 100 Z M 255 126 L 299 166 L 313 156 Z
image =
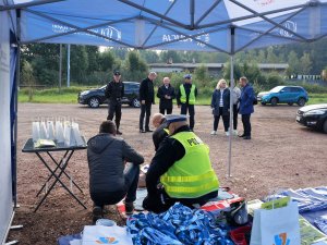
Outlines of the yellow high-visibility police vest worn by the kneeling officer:
M 196 198 L 218 191 L 219 181 L 211 168 L 209 147 L 193 132 L 171 137 L 183 145 L 185 155 L 161 175 L 166 193 L 174 198 Z

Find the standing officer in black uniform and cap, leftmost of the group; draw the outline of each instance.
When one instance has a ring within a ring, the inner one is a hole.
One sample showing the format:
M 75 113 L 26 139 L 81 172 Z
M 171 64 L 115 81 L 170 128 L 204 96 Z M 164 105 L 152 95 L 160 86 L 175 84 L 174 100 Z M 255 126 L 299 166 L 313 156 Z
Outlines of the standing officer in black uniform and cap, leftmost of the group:
M 113 73 L 113 79 L 107 85 L 105 95 L 109 100 L 107 120 L 112 121 L 113 115 L 116 115 L 117 134 L 121 135 L 122 133 L 119 131 L 119 126 L 121 120 L 121 99 L 124 96 L 124 84 L 121 82 L 119 71 Z

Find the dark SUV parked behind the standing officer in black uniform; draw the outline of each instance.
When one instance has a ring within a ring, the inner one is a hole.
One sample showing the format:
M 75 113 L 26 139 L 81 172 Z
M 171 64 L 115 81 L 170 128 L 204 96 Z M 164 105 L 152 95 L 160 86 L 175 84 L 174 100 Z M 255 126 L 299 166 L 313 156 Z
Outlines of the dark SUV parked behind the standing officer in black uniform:
M 138 100 L 140 83 L 137 82 L 123 82 L 124 83 L 124 97 L 121 99 L 122 103 L 130 105 L 132 107 L 141 107 Z M 82 105 L 88 105 L 90 108 L 97 108 L 102 103 L 108 103 L 108 99 L 105 96 L 107 85 L 78 93 L 77 101 Z

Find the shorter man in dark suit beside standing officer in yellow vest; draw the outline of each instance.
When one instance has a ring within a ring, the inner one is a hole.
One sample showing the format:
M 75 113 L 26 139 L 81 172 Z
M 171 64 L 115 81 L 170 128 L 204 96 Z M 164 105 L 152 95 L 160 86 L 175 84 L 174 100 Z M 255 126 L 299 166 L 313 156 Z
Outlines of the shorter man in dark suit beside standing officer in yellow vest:
M 170 78 L 164 77 L 164 84 L 158 88 L 157 97 L 160 99 L 159 111 L 161 114 L 171 114 L 172 100 L 174 99 L 174 88 L 170 85 Z

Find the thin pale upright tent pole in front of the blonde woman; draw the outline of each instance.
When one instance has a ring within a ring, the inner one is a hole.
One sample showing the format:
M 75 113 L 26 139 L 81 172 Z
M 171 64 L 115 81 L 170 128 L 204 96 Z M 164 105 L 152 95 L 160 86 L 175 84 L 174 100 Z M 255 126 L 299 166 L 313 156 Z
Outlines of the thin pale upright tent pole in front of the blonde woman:
M 231 44 L 231 54 L 230 54 L 230 103 L 229 103 L 229 145 L 228 145 L 228 172 L 227 177 L 231 177 L 231 148 L 232 148 L 232 137 L 233 137 L 233 88 L 234 88 L 234 27 L 230 28 L 230 44 Z

